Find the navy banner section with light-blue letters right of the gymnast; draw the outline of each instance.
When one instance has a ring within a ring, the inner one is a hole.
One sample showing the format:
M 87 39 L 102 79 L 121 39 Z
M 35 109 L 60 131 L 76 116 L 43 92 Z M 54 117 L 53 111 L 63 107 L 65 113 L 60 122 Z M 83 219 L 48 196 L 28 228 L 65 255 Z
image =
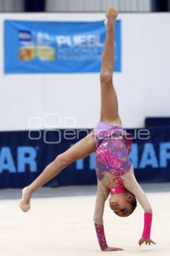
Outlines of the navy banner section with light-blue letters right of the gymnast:
M 138 133 L 138 137 L 139 131 L 129 130 L 134 136 Z M 131 147 L 130 159 L 135 176 L 145 182 L 170 181 L 170 127 L 155 127 L 146 131 L 150 132 L 150 138 L 134 139 Z

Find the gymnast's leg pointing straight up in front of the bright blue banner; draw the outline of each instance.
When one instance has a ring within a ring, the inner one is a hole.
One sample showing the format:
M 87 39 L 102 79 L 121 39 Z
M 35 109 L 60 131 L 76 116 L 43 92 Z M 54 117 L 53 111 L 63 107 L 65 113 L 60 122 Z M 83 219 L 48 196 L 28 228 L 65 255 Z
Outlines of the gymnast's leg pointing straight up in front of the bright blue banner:
M 107 13 L 107 23 L 105 24 L 107 34 L 105 38 L 104 52 L 101 58 L 101 111 L 100 121 L 118 125 L 121 119 L 118 115 L 117 95 L 113 86 L 114 67 L 114 24 L 117 18 L 117 10 L 109 7 Z

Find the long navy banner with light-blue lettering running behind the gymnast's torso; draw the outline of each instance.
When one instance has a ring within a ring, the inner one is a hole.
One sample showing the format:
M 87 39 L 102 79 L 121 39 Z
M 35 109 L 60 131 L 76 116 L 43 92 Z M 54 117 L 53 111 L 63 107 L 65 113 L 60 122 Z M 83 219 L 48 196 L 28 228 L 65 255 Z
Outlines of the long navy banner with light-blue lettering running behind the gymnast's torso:
M 139 136 L 140 129 L 127 131 L 135 137 L 130 159 L 137 180 L 170 181 L 170 128 L 148 129 L 147 139 Z M 67 133 L 73 134 L 73 129 Z M 87 132 L 75 130 L 74 134 L 82 139 Z M 31 183 L 58 154 L 78 141 L 65 135 L 65 130 L 58 129 L 0 132 L 0 188 L 21 188 Z M 61 171 L 46 186 L 96 183 L 95 154 L 91 154 Z

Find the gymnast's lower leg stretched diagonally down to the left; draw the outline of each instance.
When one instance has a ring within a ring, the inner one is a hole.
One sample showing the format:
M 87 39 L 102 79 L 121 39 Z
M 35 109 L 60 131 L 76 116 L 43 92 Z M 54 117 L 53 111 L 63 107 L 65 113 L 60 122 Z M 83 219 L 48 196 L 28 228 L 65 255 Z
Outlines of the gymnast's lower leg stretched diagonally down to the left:
M 58 155 L 52 163 L 45 167 L 44 171 L 30 184 L 23 189 L 23 198 L 20 202 L 20 208 L 27 212 L 30 208 L 30 199 L 33 192 L 42 187 L 46 182 L 59 174 L 64 168 L 76 160 L 85 158 L 92 154 L 95 149 L 95 135 L 88 134 L 86 137 L 75 143 L 68 150 Z

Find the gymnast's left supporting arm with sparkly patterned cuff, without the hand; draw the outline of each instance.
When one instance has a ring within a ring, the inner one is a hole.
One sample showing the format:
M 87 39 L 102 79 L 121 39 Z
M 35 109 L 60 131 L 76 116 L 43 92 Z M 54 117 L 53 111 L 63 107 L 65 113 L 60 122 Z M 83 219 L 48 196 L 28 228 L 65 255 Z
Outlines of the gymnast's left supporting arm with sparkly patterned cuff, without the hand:
M 103 187 L 99 180 L 97 180 L 97 195 L 96 195 L 96 203 L 95 203 L 95 212 L 94 212 L 94 223 L 97 234 L 97 239 L 99 241 L 99 245 L 101 250 L 105 250 L 108 247 L 107 241 L 105 239 L 104 234 L 104 226 L 103 226 L 103 213 L 104 213 L 104 205 L 109 195 L 109 189 Z

